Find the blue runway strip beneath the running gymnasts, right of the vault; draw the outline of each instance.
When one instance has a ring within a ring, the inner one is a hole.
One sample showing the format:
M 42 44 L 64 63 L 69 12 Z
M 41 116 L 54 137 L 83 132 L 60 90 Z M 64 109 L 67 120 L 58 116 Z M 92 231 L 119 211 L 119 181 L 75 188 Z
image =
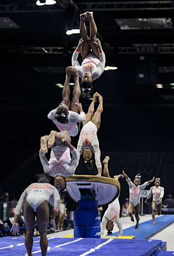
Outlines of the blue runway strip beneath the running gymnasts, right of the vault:
M 141 218 L 141 217 L 140 217 Z M 174 222 L 174 215 L 164 215 L 156 218 L 156 224 L 153 225 L 152 220 L 144 221 L 135 229 L 135 226 L 127 227 L 123 230 L 123 236 L 135 236 L 135 239 L 147 239 L 158 233 L 164 227 L 169 226 Z M 112 234 L 117 236 L 118 232 Z

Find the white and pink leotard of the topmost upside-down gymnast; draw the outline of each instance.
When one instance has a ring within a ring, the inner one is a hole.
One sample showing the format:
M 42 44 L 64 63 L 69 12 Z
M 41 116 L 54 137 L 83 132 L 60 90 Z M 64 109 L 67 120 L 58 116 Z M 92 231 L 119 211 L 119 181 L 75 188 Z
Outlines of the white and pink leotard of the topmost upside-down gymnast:
M 88 71 L 92 75 L 92 80 L 97 79 L 101 76 L 105 69 L 105 53 L 100 53 L 100 59 L 98 59 L 94 54 L 90 53 L 86 56 L 86 58 L 82 61 L 82 65 L 80 66 L 77 58 L 79 52 L 77 50 L 74 51 L 72 55 L 72 66 L 77 69 L 79 73 L 79 77 L 82 78 L 83 73 Z

